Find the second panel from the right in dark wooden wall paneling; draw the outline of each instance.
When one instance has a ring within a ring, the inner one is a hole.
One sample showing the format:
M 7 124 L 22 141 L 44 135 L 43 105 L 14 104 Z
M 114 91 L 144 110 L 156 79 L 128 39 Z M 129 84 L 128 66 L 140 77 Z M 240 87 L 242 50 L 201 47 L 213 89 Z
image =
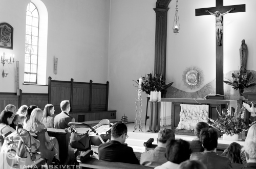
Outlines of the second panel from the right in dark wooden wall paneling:
M 90 110 L 90 83 L 74 82 L 72 112 L 84 112 L 89 110 Z

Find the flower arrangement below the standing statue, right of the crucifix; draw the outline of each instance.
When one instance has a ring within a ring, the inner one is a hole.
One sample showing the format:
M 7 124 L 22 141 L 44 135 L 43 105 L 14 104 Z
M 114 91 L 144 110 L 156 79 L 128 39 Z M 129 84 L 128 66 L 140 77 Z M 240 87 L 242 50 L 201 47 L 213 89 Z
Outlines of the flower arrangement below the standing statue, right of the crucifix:
M 224 83 L 233 86 L 233 89 L 236 90 L 244 90 L 244 88 L 248 88 L 250 86 L 255 86 L 256 83 L 253 82 L 253 77 L 251 76 L 252 73 L 247 73 L 246 75 L 243 74 L 243 66 L 239 69 L 238 73 L 232 73 L 233 80 L 223 81 Z

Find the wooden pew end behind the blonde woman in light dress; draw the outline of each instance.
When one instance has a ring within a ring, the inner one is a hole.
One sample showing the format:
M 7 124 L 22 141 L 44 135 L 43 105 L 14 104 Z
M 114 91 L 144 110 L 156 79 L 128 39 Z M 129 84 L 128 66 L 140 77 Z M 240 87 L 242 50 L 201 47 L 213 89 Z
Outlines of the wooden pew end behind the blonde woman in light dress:
M 42 157 L 43 159 L 47 159 L 47 165 L 52 164 L 52 159 L 54 158 L 54 152 L 51 150 L 48 150 L 46 148 L 46 139 L 45 139 L 45 132 L 47 131 L 47 129 L 43 129 L 40 132 L 36 131 L 36 132 L 29 132 L 34 138 L 38 139 L 40 141 L 40 146 L 39 148 L 36 150 L 38 152 L 42 153 Z

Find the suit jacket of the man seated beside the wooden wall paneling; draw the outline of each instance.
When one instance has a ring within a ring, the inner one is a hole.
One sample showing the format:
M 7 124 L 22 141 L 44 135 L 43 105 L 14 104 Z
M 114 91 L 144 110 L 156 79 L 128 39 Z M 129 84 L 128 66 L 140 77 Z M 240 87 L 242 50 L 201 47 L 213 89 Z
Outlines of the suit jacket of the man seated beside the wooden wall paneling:
M 61 112 L 54 117 L 53 124 L 55 129 L 66 129 L 70 122 L 75 122 L 75 118 L 66 112 Z

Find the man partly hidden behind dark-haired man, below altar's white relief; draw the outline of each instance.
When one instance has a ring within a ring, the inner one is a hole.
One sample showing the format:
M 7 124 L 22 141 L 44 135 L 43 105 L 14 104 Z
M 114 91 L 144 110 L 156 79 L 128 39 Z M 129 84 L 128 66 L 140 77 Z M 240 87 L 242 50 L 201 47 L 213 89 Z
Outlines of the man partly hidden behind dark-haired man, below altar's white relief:
M 190 142 L 190 148 L 192 150 L 192 153 L 195 152 L 203 152 L 204 148 L 202 146 L 202 142 L 200 141 L 200 132 L 203 128 L 209 128 L 209 125 L 205 122 L 198 122 L 195 126 L 195 135 L 197 136 Z

